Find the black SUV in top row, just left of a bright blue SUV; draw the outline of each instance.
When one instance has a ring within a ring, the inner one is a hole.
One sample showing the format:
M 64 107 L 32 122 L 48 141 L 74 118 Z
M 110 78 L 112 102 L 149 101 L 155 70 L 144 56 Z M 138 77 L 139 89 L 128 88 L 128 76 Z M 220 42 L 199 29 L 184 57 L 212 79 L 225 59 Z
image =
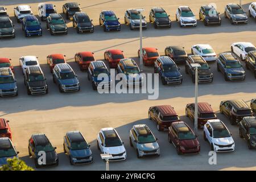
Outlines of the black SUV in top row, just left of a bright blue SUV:
M 77 34 L 82 32 L 93 32 L 94 26 L 92 19 L 84 12 L 77 12 L 73 15 L 73 27 L 76 28 Z

